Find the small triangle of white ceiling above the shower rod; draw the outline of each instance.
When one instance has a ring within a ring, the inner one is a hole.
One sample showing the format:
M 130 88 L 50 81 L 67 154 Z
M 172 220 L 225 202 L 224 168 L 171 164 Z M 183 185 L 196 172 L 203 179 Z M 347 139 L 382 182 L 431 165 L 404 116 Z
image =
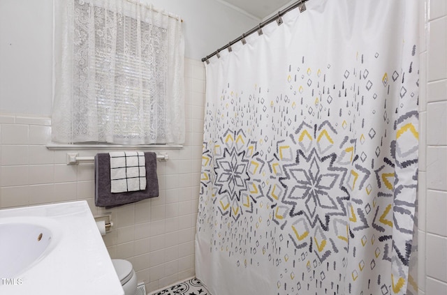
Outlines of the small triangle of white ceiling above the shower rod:
M 263 20 L 284 8 L 291 0 L 220 0 L 220 2 L 240 8 L 245 13 Z

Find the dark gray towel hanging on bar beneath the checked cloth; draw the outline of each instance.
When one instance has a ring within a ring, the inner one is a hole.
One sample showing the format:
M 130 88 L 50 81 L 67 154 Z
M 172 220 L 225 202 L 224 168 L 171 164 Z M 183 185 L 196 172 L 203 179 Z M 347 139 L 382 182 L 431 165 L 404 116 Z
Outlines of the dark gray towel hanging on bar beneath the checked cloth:
M 156 174 L 156 153 L 145 153 L 146 189 L 134 192 L 110 192 L 110 156 L 98 153 L 95 156 L 95 205 L 109 209 L 142 199 L 159 196 L 159 181 Z

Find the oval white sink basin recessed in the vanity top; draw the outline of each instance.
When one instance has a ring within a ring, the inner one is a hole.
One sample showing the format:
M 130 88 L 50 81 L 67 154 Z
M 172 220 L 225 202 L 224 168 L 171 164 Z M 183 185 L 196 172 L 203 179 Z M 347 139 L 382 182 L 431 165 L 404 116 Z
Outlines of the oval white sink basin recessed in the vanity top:
M 0 278 L 14 278 L 50 252 L 57 229 L 47 218 L 0 218 Z

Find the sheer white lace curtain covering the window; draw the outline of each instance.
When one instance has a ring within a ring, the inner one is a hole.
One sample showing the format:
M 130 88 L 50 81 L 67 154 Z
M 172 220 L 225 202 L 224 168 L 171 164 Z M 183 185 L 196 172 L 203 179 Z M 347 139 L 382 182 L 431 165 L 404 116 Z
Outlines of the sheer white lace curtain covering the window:
M 52 140 L 184 143 L 178 17 L 125 0 L 54 1 Z

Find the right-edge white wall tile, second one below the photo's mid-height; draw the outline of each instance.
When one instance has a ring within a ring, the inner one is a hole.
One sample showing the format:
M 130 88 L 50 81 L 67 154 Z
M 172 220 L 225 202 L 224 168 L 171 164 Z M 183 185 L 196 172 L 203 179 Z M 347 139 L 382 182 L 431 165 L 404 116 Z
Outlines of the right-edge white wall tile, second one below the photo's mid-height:
M 427 191 L 427 232 L 447 236 L 447 192 Z M 447 249 L 446 249 L 447 250 Z

